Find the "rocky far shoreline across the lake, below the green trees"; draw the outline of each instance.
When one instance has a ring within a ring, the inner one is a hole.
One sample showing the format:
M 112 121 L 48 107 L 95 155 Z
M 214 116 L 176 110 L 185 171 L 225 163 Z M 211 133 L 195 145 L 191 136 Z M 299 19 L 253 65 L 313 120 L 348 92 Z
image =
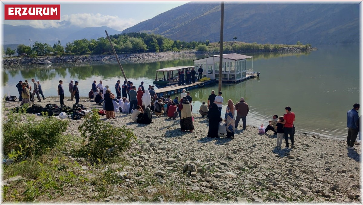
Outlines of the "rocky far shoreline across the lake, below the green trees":
M 301 52 L 299 47 L 282 47 L 280 53 L 297 53 Z M 256 51 L 259 52 L 259 51 Z M 155 62 L 157 60 L 167 60 L 176 57 L 195 57 L 196 55 L 218 54 L 212 51 L 181 50 L 167 51 L 159 53 L 136 53 L 136 54 L 118 54 L 118 58 L 125 62 Z M 83 63 L 83 62 L 116 62 L 115 55 L 62 55 L 62 56 L 44 56 L 44 57 L 14 57 L 3 58 L 2 64 L 5 66 L 22 65 L 22 64 L 39 64 L 49 60 L 52 63 Z

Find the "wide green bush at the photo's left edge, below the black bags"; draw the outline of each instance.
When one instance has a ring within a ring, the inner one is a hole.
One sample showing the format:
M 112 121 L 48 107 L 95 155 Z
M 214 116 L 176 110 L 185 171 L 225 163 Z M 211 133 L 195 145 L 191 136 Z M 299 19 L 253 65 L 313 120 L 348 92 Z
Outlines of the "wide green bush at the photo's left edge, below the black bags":
M 26 156 L 41 155 L 57 146 L 62 133 L 68 127 L 67 120 L 59 120 L 54 117 L 42 117 L 36 120 L 34 115 L 21 119 L 21 113 L 9 113 L 7 119 L 3 119 L 3 143 L 4 154 L 11 150 L 18 150 L 19 145 L 31 148 L 24 153 Z

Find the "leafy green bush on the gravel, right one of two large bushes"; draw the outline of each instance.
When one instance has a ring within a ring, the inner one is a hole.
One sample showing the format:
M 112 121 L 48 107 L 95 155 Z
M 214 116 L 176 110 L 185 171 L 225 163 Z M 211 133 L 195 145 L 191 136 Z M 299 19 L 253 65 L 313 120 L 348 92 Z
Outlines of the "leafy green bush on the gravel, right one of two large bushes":
M 116 157 L 131 145 L 132 139 L 136 140 L 131 129 L 101 122 L 96 109 L 84 117 L 84 122 L 78 126 L 78 130 L 86 144 L 77 154 L 92 161 Z

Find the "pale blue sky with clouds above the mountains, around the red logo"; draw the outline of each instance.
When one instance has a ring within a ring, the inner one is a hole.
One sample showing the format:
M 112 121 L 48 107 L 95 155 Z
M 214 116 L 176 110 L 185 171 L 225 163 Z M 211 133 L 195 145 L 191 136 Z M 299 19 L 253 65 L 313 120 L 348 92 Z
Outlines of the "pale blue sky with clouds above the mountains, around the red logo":
M 3 24 L 29 25 L 34 28 L 57 27 L 56 22 L 70 21 L 84 27 L 108 26 L 122 31 L 188 3 L 188 1 L 2 1 L 3 4 L 60 4 L 61 20 L 3 20 Z M 2 6 L 4 9 L 4 6 Z

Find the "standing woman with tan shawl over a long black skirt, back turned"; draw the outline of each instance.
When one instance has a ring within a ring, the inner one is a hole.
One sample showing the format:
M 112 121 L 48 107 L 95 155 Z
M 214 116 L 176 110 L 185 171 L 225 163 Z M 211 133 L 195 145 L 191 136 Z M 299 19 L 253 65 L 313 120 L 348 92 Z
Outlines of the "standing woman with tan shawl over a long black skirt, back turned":
M 179 110 L 181 111 L 180 117 L 180 128 L 181 131 L 189 130 L 191 133 L 194 130 L 193 120 L 192 120 L 192 104 L 185 97 L 180 103 Z

